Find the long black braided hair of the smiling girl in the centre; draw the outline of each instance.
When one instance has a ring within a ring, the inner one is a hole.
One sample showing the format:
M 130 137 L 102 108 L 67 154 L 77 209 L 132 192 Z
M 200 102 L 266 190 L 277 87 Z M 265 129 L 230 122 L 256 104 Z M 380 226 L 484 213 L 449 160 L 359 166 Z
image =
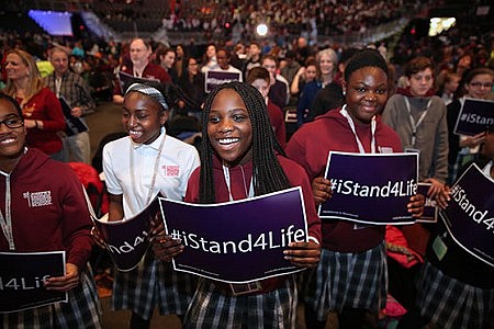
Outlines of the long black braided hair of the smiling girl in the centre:
M 268 110 L 262 95 L 245 82 L 229 82 L 217 87 L 204 102 L 202 135 L 207 136 L 211 104 L 224 89 L 233 89 L 244 101 L 252 126 L 252 180 L 255 195 L 262 195 L 290 188 L 288 178 L 277 159 L 277 152 L 285 156 L 269 122 Z M 202 138 L 199 198 L 201 203 L 215 202 L 213 180 L 214 149 L 209 138 Z

